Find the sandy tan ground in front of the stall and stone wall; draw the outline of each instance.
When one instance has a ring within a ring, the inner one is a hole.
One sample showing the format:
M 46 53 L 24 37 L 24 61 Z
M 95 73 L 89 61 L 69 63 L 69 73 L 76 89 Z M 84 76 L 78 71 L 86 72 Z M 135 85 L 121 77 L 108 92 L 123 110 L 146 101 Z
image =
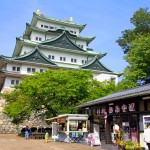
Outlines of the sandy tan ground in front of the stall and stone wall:
M 88 146 L 80 143 L 64 143 L 49 141 L 45 143 L 44 139 L 29 139 L 10 134 L 0 134 L 0 150 L 117 150 L 111 144 L 102 146 Z

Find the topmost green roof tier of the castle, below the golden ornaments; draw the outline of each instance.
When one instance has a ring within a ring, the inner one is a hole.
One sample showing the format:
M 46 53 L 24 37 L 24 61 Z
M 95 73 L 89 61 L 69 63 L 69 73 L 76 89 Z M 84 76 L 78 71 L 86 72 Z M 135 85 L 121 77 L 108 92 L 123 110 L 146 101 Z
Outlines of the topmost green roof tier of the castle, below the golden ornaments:
M 46 21 L 46 22 L 50 22 L 50 23 L 53 22 L 53 23 L 57 23 L 57 24 L 60 24 L 60 25 L 70 26 L 70 27 L 75 27 L 75 28 L 78 28 L 80 32 L 81 32 L 81 31 L 85 28 L 85 26 L 86 26 L 86 24 L 75 24 L 75 23 L 69 22 L 68 20 L 50 18 L 50 17 L 44 16 L 43 14 L 37 15 L 37 14 L 34 12 L 34 13 L 33 13 L 33 18 L 32 18 L 32 21 L 31 21 L 31 24 L 32 24 L 33 26 L 35 26 L 38 20 L 42 20 L 42 21 Z

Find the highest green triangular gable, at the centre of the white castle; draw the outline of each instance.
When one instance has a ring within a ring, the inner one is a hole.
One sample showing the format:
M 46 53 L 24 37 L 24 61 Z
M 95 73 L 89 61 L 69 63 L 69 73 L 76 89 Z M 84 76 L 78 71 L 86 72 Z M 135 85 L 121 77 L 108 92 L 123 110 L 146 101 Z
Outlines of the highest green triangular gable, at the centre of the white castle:
M 41 42 L 43 45 L 49 45 L 54 47 L 60 47 L 65 49 L 71 49 L 71 50 L 77 50 L 77 51 L 85 51 L 84 49 L 78 47 L 76 44 L 74 44 L 69 37 L 67 36 L 66 31 L 63 31 L 63 33 L 58 36 L 57 38 L 54 38 L 52 40 L 47 40 Z

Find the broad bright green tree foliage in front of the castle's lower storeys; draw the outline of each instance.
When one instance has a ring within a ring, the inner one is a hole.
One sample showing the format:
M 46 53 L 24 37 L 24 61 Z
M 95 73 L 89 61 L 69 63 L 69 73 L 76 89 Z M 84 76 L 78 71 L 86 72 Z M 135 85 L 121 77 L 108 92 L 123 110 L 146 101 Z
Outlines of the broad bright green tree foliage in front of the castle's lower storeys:
M 114 82 L 96 81 L 91 71 L 48 70 L 24 78 L 2 96 L 7 102 L 4 112 L 19 123 L 32 112 L 46 117 L 75 113 L 78 104 L 114 91 Z

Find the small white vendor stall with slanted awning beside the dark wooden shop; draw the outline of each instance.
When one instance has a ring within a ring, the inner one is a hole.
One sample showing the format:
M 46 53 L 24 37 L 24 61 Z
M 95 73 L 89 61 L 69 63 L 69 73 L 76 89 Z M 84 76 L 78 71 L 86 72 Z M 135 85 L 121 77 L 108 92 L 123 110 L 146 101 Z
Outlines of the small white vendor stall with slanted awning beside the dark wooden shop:
M 85 142 L 87 114 L 64 114 L 46 119 L 52 123 L 52 139 L 62 142 Z

